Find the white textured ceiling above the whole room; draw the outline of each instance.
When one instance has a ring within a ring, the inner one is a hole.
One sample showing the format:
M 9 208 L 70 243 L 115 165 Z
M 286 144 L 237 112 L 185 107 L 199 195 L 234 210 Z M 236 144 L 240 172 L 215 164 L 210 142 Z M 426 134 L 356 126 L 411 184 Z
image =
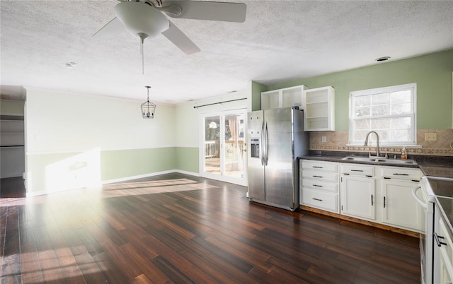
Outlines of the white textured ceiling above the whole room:
M 151 101 L 178 103 L 453 48 L 453 1 L 238 2 L 245 23 L 172 18 L 201 52 L 147 39 L 142 75 L 138 38 L 92 37 L 117 1 L 1 0 L 1 94 L 25 85 L 146 100 L 151 85 Z

